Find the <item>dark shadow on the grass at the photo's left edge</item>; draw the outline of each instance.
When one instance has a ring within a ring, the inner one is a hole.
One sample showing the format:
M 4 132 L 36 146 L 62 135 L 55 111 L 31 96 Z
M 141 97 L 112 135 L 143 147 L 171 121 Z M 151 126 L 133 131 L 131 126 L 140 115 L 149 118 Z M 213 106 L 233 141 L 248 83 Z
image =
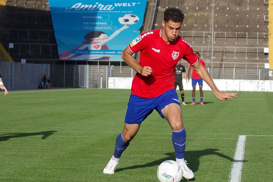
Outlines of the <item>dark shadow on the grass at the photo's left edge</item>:
M 29 136 L 36 136 L 36 135 L 43 135 L 42 139 L 46 139 L 50 135 L 52 135 L 56 131 L 41 131 L 37 133 L 9 133 L 5 135 L 0 135 L 0 142 L 7 141 L 10 138 L 20 138 L 20 137 L 29 137 Z

